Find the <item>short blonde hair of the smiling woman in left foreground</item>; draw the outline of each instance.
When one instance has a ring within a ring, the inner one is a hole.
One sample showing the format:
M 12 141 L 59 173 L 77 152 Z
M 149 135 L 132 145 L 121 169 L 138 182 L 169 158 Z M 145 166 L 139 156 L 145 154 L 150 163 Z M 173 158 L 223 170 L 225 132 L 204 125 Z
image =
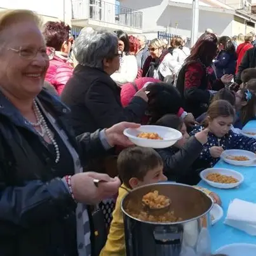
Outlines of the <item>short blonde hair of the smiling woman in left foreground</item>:
M 41 18 L 30 10 L 4 10 L 0 11 L 0 39 L 1 34 L 10 25 L 18 24 L 20 22 L 30 21 L 40 29 L 43 21 Z M 3 40 L 2 40 L 3 41 Z

